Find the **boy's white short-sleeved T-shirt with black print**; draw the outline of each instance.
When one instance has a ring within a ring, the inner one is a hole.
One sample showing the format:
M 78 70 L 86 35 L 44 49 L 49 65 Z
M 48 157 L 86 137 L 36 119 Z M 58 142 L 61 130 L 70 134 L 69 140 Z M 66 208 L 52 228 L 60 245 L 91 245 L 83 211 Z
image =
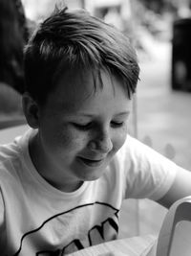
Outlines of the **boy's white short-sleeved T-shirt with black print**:
M 104 175 L 64 193 L 32 164 L 29 138 L 34 132 L 0 147 L 2 256 L 64 255 L 116 239 L 122 200 L 162 198 L 179 168 L 128 135 Z

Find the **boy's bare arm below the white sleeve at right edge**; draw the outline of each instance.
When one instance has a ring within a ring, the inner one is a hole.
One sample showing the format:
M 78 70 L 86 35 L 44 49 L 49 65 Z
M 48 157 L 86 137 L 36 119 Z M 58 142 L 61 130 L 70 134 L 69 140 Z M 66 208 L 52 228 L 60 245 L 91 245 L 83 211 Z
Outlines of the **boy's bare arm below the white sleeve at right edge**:
M 180 168 L 171 188 L 158 202 L 169 208 L 176 200 L 187 196 L 191 196 L 191 172 Z

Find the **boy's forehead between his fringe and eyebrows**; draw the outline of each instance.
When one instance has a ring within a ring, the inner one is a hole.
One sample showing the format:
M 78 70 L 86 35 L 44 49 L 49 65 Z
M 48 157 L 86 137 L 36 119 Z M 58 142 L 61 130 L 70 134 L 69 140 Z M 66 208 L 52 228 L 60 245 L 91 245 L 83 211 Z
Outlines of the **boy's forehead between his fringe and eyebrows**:
M 85 105 L 87 102 L 94 102 L 96 105 L 96 99 L 100 100 L 102 94 L 104 94 L 105 100 L 111 95 L 115 97 L 118 87 L 120 90 L 124 90 L 124 95 L 128 98 L 124 84 L 107 71 L 70 70 L 60 76 L 56 82 L 53 93 L 48 97 L 48 105 L 62 108 L 66 112 L 76 111 L 79 106 Z M 103 99 L 103 97 L 101 98 Z

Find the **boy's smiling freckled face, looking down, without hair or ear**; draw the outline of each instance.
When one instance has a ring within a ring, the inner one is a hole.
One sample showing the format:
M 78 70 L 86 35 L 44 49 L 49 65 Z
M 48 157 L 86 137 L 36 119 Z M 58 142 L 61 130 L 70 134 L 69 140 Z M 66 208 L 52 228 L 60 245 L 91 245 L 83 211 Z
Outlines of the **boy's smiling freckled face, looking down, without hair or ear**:
M 35 165 L 63 190 L 103 175 L 125 141 L 131 101 L 117 78 L 101 79 L 95 91 L 91 73 L 68 73 L 39 107 Z

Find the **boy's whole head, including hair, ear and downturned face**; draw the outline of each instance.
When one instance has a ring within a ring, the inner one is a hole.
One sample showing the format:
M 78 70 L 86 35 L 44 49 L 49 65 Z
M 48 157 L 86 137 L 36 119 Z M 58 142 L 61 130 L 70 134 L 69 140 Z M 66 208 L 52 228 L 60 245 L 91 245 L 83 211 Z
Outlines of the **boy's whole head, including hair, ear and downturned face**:
M 128 39 L 87 12 L 56 12 L 29 42 L 25 73 L 38 172 L 63 191 L 101 176 L 125 142 L 138 81 Z

